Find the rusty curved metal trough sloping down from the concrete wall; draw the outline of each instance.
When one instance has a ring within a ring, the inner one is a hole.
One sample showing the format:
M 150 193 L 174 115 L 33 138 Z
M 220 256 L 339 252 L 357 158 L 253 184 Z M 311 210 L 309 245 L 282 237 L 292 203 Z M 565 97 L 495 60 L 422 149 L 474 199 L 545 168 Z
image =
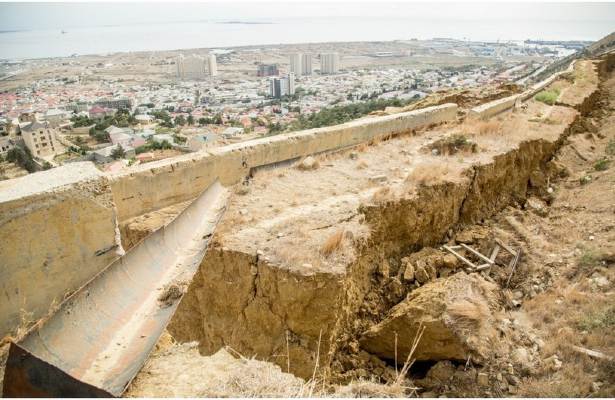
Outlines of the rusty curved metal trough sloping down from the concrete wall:
M 139 372 L 192 281 L 224 212 L 228 192 L 212 184 L 157 230 L 75 292 L 59 310 L 12 343 L 8 397 L 120 396 Z M 32 284 L 36 284 L 33 282 Z

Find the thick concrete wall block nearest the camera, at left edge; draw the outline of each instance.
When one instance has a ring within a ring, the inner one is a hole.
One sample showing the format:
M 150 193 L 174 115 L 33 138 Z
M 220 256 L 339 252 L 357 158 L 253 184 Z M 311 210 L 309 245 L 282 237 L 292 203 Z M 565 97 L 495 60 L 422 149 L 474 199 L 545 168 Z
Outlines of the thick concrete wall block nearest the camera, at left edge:
M 119 245 L 113 196 L 91 163 L 0 183 L 0 337 L 109 265 Z

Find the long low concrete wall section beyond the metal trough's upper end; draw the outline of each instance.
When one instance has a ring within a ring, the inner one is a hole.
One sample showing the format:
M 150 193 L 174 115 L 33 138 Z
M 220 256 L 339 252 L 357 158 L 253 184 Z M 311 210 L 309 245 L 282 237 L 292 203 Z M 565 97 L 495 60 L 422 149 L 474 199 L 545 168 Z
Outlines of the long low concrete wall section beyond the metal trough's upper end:
M 251 140 L 136 167 L 110 176 L 119 219 L 124 222 L 192 199 L 216 178 L 224 185 L 235 184 L 247 176 L 251 168 L 452 121 L 456 115 L 457 105 L 444 104 Z

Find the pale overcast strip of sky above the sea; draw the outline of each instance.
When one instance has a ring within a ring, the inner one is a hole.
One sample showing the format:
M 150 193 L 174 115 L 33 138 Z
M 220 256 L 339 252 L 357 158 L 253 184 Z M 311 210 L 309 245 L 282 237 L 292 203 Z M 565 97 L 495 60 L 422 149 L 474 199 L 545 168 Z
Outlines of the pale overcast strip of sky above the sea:
M 67 29 L 203 20 L 307 17 L 418 17 L 438 20 L 613 21 L 615 3 L 154 2 L 0 3 L 0 31 Z

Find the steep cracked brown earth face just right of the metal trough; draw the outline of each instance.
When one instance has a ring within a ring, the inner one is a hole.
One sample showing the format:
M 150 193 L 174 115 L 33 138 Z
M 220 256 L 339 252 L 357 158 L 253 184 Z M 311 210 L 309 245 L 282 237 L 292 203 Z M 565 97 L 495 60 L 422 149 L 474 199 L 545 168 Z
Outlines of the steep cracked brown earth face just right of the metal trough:
M 230 346 L 310 376 L 340 313 L 341 277 L 291 273 L 259 258 L 210 249 L 169 332 L 197 341 L 203 354 Z

